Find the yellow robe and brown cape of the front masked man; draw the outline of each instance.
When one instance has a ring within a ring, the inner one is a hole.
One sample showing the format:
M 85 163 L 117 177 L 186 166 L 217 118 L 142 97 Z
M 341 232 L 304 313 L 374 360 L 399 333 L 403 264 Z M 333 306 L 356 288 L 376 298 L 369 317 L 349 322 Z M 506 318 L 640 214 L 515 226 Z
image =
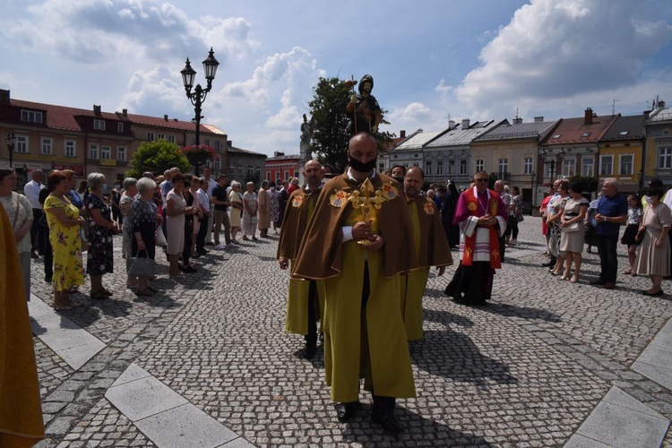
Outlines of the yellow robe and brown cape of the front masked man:
M 376 175 L 376 189 L 396 182 Z M 417 269 L 412 225 L 403 194 L 374 211 L 372 228 L 385 245 L 378 252 L 356 241 L 343 243 L 342 227 L 361 220 L 350 202 L 330 202 L 337 192 L 360 185 L 346 175 L 323 186 L 297 259 L 294 275 L 324 280 L 324 372 L 332 401 L 358 401 L 359 378 L 365 388 L 388 397 L 415 396 L 409 346 L 401 315 L 401 273 Z M 340 205 L 337 205 L 340 204 Z M 370 294 L 362 315 L 365 262 Z

